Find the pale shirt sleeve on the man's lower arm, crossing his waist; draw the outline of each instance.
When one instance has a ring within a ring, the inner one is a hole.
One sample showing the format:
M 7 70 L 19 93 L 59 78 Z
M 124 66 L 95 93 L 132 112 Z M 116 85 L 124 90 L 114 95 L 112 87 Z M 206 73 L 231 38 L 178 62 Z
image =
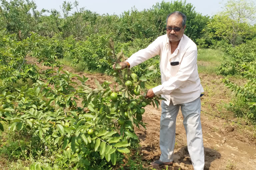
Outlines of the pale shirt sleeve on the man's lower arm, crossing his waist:
M 185 52 L 177 74 L 163 84 L 154 87 L 152 89 L 153 93 L 155 95 L 169 95 L 173 90 L 179 88 L 189 78 L 193 78 L 192 74 L 195 71 L 197 72 L 196 61 L 197 50 Z

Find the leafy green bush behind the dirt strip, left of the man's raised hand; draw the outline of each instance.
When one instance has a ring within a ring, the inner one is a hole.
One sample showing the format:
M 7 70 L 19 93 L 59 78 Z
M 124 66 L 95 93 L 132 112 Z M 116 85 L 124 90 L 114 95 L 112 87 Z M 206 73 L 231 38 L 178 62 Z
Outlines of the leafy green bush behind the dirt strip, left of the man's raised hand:
M 108 73 L 112 68 L 108 64 L 108 40 L 108 35 L 101 34 L 91 35 L 85 41 L 76 41 L 70 36 L 64 40 L 63 56 L 70 58 L 73 66 L 83 62 L 83 70 Z

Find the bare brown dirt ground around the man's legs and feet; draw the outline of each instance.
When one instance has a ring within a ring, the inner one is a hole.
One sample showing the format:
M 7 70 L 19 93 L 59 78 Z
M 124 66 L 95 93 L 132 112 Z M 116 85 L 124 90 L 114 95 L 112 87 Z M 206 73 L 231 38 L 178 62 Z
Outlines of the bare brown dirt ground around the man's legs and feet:
M 202 109 L 204 109 L 202 107 Z M 137 135 L 141 142 L 141 153 L 145 160 L 159 159 L 161 151 L 159 148 L 161 109 L 152 106 L 146 108 L 143 115 L 143 122 L 148 123 L 147 130 L 137 129 Z M 211 119 L 208 115 L 201 115 L 204 147 L 205 147 L 205 169 L 226 170 L 226 169 L 256 169 L 256 146 L 237 139 L 233 127 L 223 128 L 222 125 L 228 122 Z M 173 170 L 193 169 L 187 151 L 186 132 L 183 127 L 183 117 L 179 112 L 176 122 L 176 143 L 174 153 Z M 150 167 L 150 166 L 149 166 Z M 161 169 L 156 168 L 156 169 Z M 168 167 L 168 170 L 170 167 Z

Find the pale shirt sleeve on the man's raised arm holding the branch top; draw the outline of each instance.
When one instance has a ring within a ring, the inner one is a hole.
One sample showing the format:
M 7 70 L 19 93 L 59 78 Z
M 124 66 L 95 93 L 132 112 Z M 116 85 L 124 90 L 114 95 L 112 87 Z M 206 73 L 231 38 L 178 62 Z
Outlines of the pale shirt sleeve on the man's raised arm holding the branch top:
M 157 38 L 154 42 L 149 44 L 147 48 L 141 49 L 138 52 L 132 54 L 126 61 L 129 62 L 130 68 L 152 58 L 156 55 L 160 55 L 160 38 Z

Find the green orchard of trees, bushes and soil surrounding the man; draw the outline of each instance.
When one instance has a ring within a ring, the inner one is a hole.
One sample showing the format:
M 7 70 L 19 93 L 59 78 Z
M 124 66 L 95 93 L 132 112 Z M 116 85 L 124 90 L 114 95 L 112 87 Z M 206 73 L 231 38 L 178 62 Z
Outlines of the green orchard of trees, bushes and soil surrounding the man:
M 112 66 L 165 35 L 173 11 L 197 45 L 205 169 L 256 169 L 256 6 L 221 5 L 212 17 L 179 0 L 110 15 L 77 0 L 1 0 L 0 169 L 152 169 L 164 99 L 145 95 L 162 83 L 160 56 Z M 161 169 L 192 168 L 180 113 L 176 122 L 175 163 Z

